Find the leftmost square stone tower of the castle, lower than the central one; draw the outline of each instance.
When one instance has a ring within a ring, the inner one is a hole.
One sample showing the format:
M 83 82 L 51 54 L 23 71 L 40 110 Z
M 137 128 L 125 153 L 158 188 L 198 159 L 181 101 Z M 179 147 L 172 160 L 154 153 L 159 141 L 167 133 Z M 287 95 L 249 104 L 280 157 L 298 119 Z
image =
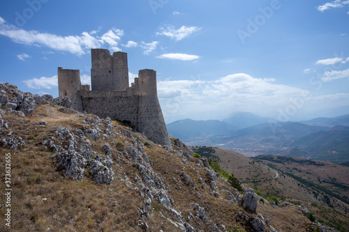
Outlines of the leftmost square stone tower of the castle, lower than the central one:
M 80 70 L 58 68 L 59 97 L 68 97 L 73 102 L 71 106 L 76 111 L 84 111 L 80 96 L 81 82 Z

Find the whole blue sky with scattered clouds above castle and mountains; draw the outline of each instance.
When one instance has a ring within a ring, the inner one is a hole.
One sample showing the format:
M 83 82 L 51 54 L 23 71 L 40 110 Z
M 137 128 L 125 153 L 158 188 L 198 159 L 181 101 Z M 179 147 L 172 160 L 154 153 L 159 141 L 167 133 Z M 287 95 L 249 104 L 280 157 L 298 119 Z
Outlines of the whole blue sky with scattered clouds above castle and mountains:
M 156 70 L 167 123 L 349 114 L 348 0 L 0 2 L 0 82 L 57 96 L 91 48 L 127 52 L 131 82 Z

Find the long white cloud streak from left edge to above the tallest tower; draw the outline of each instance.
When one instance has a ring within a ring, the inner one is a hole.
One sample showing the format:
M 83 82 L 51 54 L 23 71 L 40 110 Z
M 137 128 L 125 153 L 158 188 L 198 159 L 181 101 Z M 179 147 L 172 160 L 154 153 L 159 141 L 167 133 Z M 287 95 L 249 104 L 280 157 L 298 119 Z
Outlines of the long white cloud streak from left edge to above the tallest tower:
M 96 47 L 102 47 L 107 44 L 111 49 L 119 51 L 117 47 L 121 36 L 124 36 L 124 31 L 120 29 L 110 29 L 101 37 L 96 35 L 96 31 L 88 33 L 82 32 L 80 36 L 59 36 L 52 33 L 42 33 L 40 31 L 26 31 L 12 24 L 6 24 L 3 18 L 0 18 L 0 35 L 6 36 L 24 45 L 33 45 L 38 47 L 48 47 L 62 52 L 70 52 L 72 54 L 82 55 L 87 50 Z

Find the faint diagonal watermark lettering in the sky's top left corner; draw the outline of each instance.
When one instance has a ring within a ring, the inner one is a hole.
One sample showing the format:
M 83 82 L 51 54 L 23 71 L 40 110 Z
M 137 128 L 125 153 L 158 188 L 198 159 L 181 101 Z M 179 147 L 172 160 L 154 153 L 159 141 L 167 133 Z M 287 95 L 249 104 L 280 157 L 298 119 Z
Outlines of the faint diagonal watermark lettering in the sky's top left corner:
M 18 11 L 15 12 L 16 19 L 15 23 L 17 26 L 24 26 L 27 24 L 27 20 L 30 20 L 32 17 L 34 17 L 35 13 L 38 13 L 38 11 L 41 9 L 41 6 L 43 3 L 47 3 L 50 0 L 27 0 L 27 8 L 24 8 L 22 10 L 22 13 L 19 13 Z

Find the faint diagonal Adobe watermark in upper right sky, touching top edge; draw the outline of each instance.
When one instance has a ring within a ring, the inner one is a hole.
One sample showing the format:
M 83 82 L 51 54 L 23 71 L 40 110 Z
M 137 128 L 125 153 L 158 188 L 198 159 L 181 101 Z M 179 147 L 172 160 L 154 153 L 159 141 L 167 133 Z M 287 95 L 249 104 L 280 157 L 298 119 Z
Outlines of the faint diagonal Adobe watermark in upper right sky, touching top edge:
M 253 19 L 247 19 L 247 26 L 245 30 L 239 29 L 237 30 L 237 35 L 239 36 L 242 44 L 245 44 L 246 38 L 251 38 L 254 33 L 257 33 L 261 26 L 265 25 L 267 20 L 270 20 L 274 11 L 280 10 L 281 3 L 279 0 L 272 0 L 269 6 L 265 8 L 259 7 L 258 11 L 260 14 L 255 15 Z

